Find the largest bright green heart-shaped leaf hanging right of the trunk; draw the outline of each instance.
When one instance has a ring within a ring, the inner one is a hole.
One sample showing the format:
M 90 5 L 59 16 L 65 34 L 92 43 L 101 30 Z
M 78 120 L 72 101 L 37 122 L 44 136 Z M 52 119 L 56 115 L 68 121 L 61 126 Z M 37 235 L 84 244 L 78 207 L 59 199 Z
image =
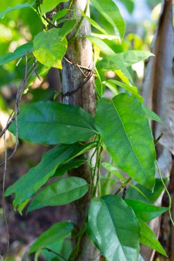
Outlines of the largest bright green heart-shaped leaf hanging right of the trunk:
M 97 105 L 96 124 L 118 168 L 153 190 L 155 148 L 142 104 L 127 93 L 116 95 L 112 100 L 102 98 Z

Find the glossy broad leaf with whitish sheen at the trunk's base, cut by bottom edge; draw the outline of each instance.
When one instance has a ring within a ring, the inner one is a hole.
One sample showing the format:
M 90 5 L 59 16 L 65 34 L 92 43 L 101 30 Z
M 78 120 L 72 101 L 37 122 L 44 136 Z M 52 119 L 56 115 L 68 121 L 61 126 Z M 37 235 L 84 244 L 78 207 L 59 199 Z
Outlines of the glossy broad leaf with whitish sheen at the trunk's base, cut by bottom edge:
M 138 260 L 140 226 L 122 198 L 113 195 L 94 198 L 88 223 L 91 238 L 107 260 Z

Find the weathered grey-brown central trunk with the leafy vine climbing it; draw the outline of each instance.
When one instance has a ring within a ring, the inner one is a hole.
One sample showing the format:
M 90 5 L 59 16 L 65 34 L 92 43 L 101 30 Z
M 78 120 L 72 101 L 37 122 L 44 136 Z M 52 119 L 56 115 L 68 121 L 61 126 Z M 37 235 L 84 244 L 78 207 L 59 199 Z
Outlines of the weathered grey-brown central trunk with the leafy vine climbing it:
M 87 0 L 74 0 L 71 9 L 74 9 L 77 17 L 80 17 L 80 10 L 85 11 L 86 5 Z M 61 8 L 69 8 L 69 2 L 62 3 Z M 89 15 L 89 9 L 87 10 L 87 14 Z M 74 16 L 74 12 L 69 12 L 68 18 L 71 18 L 72 16 Z M 74 34 L 77 32 L 80 21 L 81 17 L 78 18 L 78 23 L 74 30 L 69 34 L 68 38 L 72 38 L 72 36 L 74 36 Z M 74 64 L 77 63 L 83 67 L 90 67 L 94 64 L 94 54 L 91 43 L 85 38 L 78 37 L 88 34 L 91 34 L 91 26 L 87 19 L 84 19 L 83 23 L 80 25 L 80 29 L 78 30 L 77 37 L 68 44 L 67 54 L 65 56 L 65 58 L 71 60 Z M 89 71 L 84 70 L 84 73 L 89 73 Z M 80 87 L 80 85 L 83 84 L 84 81 L 87 81 L 87 78 L 80 71 L 78 66 L 72 65 L 64 59 L 62 70 L 63 94 L 76 90 L 78 87 Z M 83 85 L 83 87 L 80 87 L 72 95 L 65 95 L 63 97 L 63 103 L 76 104 L 91 115 L 94 115 L 96 109 L 94 76 L 92 75 L 91 78 Z M 85 155 L 85 157 L 90 159 L 91 153 L 88 153 Z M 80 231 L 80 229 L 85 225 L 89 204 L 91 203 L 91 170 L 89 165 L 85 163 L 83 166 L 69 171 L 69 175 L 81 177 L 85 179 L 87 183 L 89 183 L 89 191 L 87 194 L 85 194 L 83 198 L 80 198 L 80 200 L 71 204 L 71 220 L 76 225 L 78 231 Z M 75 238 L 72 242 L 73 247 L 76 246 L 76 241 L 77 239 Z M 72 260 L 90 261 L 94 260 L 95 258 L 95 260 L 99 260 L 99 256 L 100 255 L 98 251 L 96 251 L 96 247 L 94 247 L 93 243 L 90 242 L 89 238 L 85 234 L 80 240 L 80 246 L 77 250 L 75 258 L 72 258 Z

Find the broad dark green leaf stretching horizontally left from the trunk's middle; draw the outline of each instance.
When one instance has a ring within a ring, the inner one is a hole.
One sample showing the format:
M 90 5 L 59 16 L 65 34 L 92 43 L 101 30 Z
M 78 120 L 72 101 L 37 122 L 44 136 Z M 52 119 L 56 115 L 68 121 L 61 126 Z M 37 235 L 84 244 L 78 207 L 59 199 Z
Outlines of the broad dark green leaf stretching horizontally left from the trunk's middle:
M 32 131 L 31 131 L 32 130 Z M 15 132 L 14 124 L 10 131 Z M 43 144 L 73 144 L 97 134 L 94 119 L 78 106 L 36 102 L 21 109 L 18 117 L 21 139 Z

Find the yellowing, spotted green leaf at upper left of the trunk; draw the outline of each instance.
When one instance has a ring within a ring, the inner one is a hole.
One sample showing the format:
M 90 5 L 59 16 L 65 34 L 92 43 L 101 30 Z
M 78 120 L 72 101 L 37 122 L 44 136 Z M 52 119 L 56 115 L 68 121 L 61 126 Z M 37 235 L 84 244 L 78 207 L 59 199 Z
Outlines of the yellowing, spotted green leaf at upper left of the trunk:
M 34 37 L 34 56 L 40 63 L 48 67 L 62 69 L 61 60 L 67 52 L 67 39 L 65 36 L 76 25 L 76 20 L 69 20 L 61 28 L 52 28 L 41 32 Z

